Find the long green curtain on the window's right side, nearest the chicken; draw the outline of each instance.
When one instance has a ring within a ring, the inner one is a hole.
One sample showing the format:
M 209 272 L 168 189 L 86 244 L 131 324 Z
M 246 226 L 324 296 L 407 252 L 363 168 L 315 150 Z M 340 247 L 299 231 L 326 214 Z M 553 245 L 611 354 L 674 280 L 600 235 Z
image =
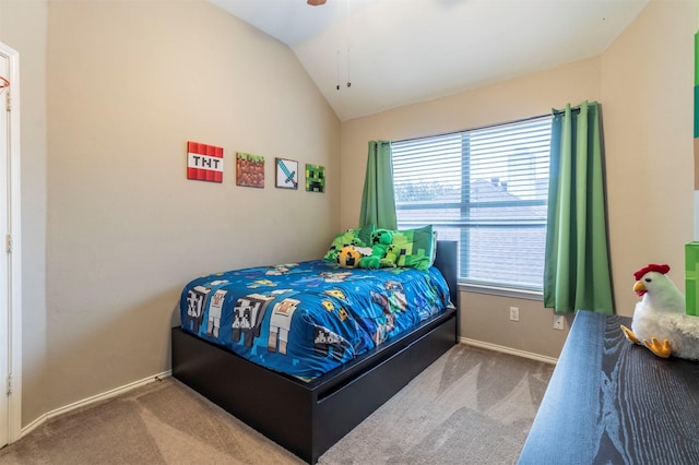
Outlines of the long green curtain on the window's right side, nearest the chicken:
M 600 105 L 554 110 L 544 307 L 613 313 Z

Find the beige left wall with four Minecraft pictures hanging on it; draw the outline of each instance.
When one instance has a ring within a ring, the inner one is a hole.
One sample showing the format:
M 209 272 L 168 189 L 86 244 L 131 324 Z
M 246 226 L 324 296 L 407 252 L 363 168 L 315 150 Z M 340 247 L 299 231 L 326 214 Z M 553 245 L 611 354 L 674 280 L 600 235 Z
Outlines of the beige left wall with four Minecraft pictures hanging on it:
M 26 426 L 168 370 L 187 281 L 321 255 L 340 121 L 288 47 L 203 0 L 0 3 L 28 103 Z M 187 141 L 225 148 L 223 183 L 186 179 Z M 235 151 L 265 157 L 264 189 L 235 184 Z M 275 189 L 274 157 L 325 166 L 327 193 Z

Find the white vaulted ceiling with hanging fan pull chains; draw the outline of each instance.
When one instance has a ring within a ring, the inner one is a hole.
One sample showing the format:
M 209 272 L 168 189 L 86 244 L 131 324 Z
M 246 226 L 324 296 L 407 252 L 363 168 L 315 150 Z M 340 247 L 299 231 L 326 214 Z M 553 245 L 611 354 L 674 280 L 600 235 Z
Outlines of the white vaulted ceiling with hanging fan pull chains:
M 345 121 L 602 53 L 649 0 L 210 0 L 288 45 Z

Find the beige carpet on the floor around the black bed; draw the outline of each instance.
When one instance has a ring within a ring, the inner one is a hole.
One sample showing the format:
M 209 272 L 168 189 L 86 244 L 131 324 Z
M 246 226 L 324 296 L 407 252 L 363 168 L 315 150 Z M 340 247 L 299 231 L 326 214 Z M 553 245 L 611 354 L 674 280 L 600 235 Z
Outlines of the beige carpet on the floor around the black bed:
M 455 346 L 319 464 L 512 464 L 554 367 Z M 175 379 L 52 418 L 0 464 L 303 464 Z

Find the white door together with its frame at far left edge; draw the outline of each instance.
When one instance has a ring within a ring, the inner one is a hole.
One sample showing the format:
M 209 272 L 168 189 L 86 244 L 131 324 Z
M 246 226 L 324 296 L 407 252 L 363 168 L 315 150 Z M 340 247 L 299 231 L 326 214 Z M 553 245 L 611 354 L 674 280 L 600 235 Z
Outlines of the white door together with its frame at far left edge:
M 19 71 L 17 52 L 0 44 L 0 448 L 19 439 L 21 427 Z

